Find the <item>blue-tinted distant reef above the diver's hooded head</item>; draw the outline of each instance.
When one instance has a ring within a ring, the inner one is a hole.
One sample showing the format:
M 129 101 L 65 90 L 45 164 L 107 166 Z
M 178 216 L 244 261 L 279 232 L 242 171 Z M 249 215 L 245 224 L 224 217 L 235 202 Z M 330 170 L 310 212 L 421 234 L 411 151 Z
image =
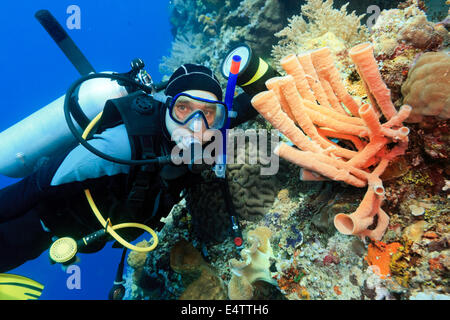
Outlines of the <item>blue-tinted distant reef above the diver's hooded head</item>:
M 190 33 L 196 35 L 191 43 L 196 57 L 201 57 L 201 62 L 220 77 L 221 59 L 237 43 L 247 42 L 258 55 L 270 58 L 271 46 L 276 43 L 274 34 L 299 7 L 297 0 L 173 1 L 171 24 L 178 39 Z M 180 48 L 180 45 L 188 54 L 192 52 L 174 40 L 174 46 Z M 161 72 L 169 75 L 173 66 L 179 64 L 179 58 L 174 53 L 164 57 Z

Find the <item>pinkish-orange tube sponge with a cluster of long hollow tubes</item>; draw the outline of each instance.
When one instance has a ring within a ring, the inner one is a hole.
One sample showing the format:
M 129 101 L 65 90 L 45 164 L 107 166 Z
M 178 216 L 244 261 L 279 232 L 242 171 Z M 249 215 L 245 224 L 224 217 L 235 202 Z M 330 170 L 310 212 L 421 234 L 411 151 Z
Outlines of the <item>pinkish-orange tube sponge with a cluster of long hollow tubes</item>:
M 345 234 L 380 240 L 389 218 L 381 209 L 384 188 L 379 176 L 391 160 L 406 150 L 409 129 L 402 127 L 401 123 L 411 108 L 403 106 L 399 112 L 396 111 L 390 92 L 381 80 L 370 44 L 352 48 L 350 56 L 357 65 L 373 107 L 369 104 L 360 107 L 346 92 L 328 48 L 283 58 L 280 63 L 288 76 L 269 80 L 266 85 L 270 90 L 256 95 L 252 104 L 303 150 L 282 143 L 275 151 L 278 155 L 332 180 L 356 187 L 368 185 L 358 209 L 352 215 L 338 214 L 334 222 L 336 228 Z M 345 104 L 349 114 L 356 117 L 349 117 L 339 101 Z M 389 121 L 381 125 L 377 112 L 382 112 Z M 311 140 L 295 126 L 294 121 Z M 327 137 L 351 141 L 358 151 L 333 144 Z M 369 139 L 367 145 L 362 137 Z M 398 145 L 388 150 L 385 146 L 393 142 Z M 370 174 L 360 170 L 372 166 L 374 169 Z M 375 221 L 376 228 L 368 229 Z

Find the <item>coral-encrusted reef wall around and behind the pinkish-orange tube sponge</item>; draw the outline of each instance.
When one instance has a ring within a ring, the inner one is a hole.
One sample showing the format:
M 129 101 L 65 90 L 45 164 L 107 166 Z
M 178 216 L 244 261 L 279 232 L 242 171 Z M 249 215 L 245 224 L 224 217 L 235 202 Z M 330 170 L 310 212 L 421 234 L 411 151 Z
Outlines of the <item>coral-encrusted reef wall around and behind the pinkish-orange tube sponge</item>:
M 169 74 L 177 64 L 196 62 L 219 74 L 221 57 L 242 41 L 274 66 L 284 55 L 329 46 L 349 94 L 371 103 L 347 57 L 353 45 L 372 43 L 392 103 L 414 110 L 406 123 L 405 154 L 380 176 L 382 208 L 389 216 L 383 237 L 361 240 L 333 225 L 336 214 L 355 211 L 365 190 L 332 180 L 300 181 L 302 169 L 291 164 L 267 180 L 255 176 L 258 168 L 239 165 L 229 173 L 248 251 L 236 250 L 220 192 L 212 184 L 194 188 L 164 220 L 158 248 L 135 259 L 128 298 L 205 299 L 202 287 L 217 299 L 450 298 L 449 6 L 416 0 L 345 3 L 172 1 L 176 40 L 161 68 Z M 383 10 L 369 30 L 361 15 L 371 4 Z M 255 230 L 263 230 L 264 239 Z M 174 269 L 171 252 L 180 241 L 195 259 L 180 258 Z M 195 277 L 186 280 L 189 261 L 196 263 Z

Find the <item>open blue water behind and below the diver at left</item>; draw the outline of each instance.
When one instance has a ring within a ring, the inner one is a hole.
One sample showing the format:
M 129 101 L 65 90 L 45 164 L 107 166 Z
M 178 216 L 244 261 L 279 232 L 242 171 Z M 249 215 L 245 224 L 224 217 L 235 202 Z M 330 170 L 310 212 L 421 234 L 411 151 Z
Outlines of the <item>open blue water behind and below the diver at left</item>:
M 73 4 L 81 10 L 79 30 L 66 27 L 70 17 L 66 11 Z M 153 79 L 160 81 L 158 65 L 162 56 L 169 54 L 172 41 L 168 4 L 169 0 L 2 2 L 0 131 L 62 96 L 79 77 L 34 18 L 36 11 L 50 10 L 97 71 L 125 72 L 130 61 L 140 57 Z M 0 176 L 0 189 L 15 181 Z M 109 244 L 99 253 L 80 255 L 81 289 L 68 289 L 71 274 L 51 265 L 48 252 L 10 273 L 44 284 L 41 299 L 107 299 L 121 252 Z

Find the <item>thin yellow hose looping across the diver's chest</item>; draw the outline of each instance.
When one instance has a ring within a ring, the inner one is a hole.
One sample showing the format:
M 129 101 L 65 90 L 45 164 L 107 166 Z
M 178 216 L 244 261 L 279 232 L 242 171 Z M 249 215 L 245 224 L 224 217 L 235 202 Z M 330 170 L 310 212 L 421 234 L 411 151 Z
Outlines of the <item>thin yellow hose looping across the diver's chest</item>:
M 94 128 L 94 126 L 97 124 L 97 122 L 100 120 L 100 118 L 102 117 L 103 112 L 100 112 L 95 118 L 94 120 L 91 121 L 91 123 L 89 123 L 89 125 L 86 127 L 86 130 L 84 130 L 83 132 L 83 139 L 86 140 L 87 136 L 89 135 L 89 133 L 92 131 L 92 129 Z M 128 248 L 130 250 L 133 251 L 137 251 L 137 252 L 150 252 L 152 250 L 154 250 L 156 248 L 156 246 L 158 245 L 158 235 L 156 234 L 155 231 L 153 231 L 152 228 L 150 228 L 149 226 L 142 224 L 142 223 L 134 223 L 134 222 L 127 222 L 127 223 L 121 223 L 121 224 L 117 224 L 117 225 L 112 225 L 111 222 L 108 220 L 106 221 L 102 214 L 100 213 L 100 210 L 98 210 L 97 206 L 95 205 L 94 199 L 92 198 L 91 195 L 91 191 L 89 189 L 85 189 L 84 193 L 86 195 L 86 198 L 89 202 L 89 205 L 91 206 L 92 211 L 94 212 L 95 216 L 97 217 L 98 221 L 100 222 L 100 224 L 106 228 L 106 232 L 108 232 L 118 243 L 120 243 L 121 245 L 123 245 L 125 248 Z M 144 231 L 147 231 L 148 233 L 150 233 L 152 235 L 153 238 L 153 244 L 150 247 L 138 247 L 135 246 L 129 242 L 127 242 L 124 238 L 122 238 L 115 230 L 118 229 L 122 229 L 122 228 L 138 228 L 138 229 L 142 229 Z

